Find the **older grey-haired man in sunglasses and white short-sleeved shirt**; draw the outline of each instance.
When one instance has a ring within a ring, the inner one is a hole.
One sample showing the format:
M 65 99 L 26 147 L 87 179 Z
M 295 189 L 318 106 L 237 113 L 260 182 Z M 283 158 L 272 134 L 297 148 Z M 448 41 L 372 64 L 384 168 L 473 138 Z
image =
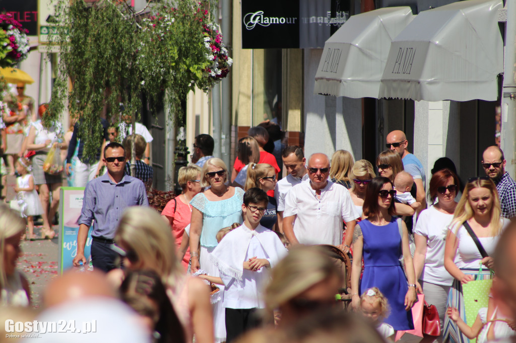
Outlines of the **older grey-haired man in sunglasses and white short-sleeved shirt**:
M 314 153 L 308 161 L 310 182 L 301 182 L 287 193 L 283 232 L 292 245 L 331 244 L 349 251 L 356 219 L 348 190 L 328 180 L 330 160 Z M 343 220 L 346 239 L 342 244 Z

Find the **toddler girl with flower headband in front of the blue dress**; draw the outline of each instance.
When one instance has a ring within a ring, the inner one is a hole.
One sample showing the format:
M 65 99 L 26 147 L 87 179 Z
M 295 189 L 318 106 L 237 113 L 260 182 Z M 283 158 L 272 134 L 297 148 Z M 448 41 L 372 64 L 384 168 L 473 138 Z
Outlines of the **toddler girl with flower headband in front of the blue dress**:
M 389 316 L 389 302 L 377 287 L 367 289 L 360 297 L 362 314 L 369 319 L 376 330 L 388 341 L 394 341 L 394 329 L 383 319 Z

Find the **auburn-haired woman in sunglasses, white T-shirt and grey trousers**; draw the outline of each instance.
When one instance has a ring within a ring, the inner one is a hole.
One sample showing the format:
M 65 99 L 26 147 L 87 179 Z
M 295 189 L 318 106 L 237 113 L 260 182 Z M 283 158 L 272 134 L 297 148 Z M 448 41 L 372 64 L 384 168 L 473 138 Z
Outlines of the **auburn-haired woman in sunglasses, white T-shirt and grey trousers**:
M 417 289 L 425 294 L 426 302 L 436 305 L 441 332 L 448 292 L 453 282 L 453 277 L 444 268 L 444 245 L 457 207 L 458 184 L 459 178 L 450 169 L 442 169 L 432 175 L 428 191 L 431 206 L 421 212 L 414 230 Z

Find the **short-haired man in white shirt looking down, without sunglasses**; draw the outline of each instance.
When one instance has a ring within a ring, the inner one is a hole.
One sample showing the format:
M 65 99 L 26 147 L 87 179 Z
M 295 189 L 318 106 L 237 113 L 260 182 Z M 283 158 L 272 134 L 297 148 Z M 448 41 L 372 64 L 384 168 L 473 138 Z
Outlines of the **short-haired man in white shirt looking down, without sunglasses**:
M 305 165 L 307 159 L 304 158 L 302 148 L 296 145 L 287 146 L 281 153 L 281 159 L 288 174 L 276 183 L 274 190 L 274 197 L 278 204 L 276 214 L 280 231 L 283 230 L 283 211 L 285 211 L 285 197 L 288 191 L 301 181 L 308 180 L 308 169 Z

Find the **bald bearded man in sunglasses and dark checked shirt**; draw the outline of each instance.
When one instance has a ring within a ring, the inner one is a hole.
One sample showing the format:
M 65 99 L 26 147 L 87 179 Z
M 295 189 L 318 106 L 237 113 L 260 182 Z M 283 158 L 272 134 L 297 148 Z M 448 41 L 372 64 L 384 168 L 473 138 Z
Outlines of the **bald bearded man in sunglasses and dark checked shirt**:
M 488 147 L 482 154 L 482 167 L 496 185 L 502 216 L 510 219 L 516 217 L 516 181 L 505 171 L 506 163 L 504 152 L 496 145 Z

